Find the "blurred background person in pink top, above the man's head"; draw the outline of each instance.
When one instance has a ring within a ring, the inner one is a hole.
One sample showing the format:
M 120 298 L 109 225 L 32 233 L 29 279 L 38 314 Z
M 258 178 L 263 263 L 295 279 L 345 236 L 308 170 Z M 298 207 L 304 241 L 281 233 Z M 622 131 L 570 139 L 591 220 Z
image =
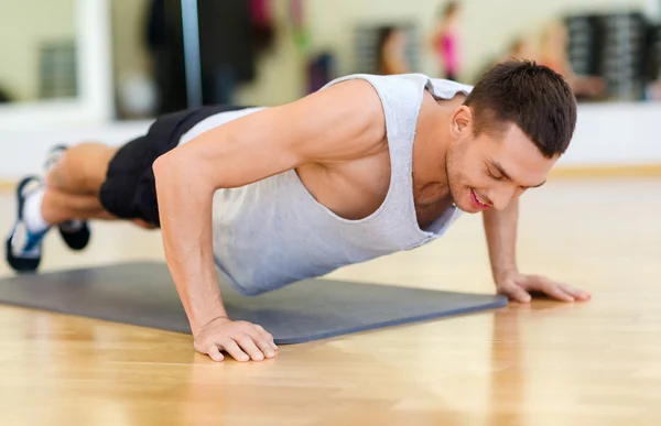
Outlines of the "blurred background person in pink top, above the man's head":
M 438 59 L 438 67 L 445 69 L 446 79 L 457 80 L 460 67 L 457 21 L 460 12 L 458 1 L 451 1 L 442 9 L 432 35 L 432 47 Z

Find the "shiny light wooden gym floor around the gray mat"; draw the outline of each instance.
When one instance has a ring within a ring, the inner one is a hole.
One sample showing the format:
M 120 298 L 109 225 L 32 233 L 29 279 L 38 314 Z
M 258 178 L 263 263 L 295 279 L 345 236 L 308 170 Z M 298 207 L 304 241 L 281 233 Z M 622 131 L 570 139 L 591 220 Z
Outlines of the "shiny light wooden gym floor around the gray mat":
M 13 200 L 0 197 L 2 232 Z M 189 336 L 0 306 L 1 425 L 661 425 L 661 179 L 559 181 L 523 198 L 520 266 L 593 293 L 213 363 Z M 162 259 L 160 237 L 56 233 L 44 270 Z M 492 292 L 479 217 L 333 274 Z M 9 274 L 4 264 L 0 274 Z

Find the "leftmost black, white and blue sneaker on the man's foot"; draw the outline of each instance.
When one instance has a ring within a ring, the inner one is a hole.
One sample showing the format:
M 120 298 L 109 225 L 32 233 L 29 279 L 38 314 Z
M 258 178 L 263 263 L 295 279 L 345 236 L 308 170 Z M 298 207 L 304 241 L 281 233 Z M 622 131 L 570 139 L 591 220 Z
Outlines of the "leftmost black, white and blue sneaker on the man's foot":
M 36 176 L 23 178 L 17 187 L 17 221 L 7 238 L 4 245 L 4 256 L 9 265 L 17 272 L 36 271 L 41 263 L 42 242 L 44 236 L 48 232 L 46 228 L 43 232 L 32 233 L 28 230 L 23 221 L 23 205 L 25 199 L 35 189 L 41 188 L 42 183 Z

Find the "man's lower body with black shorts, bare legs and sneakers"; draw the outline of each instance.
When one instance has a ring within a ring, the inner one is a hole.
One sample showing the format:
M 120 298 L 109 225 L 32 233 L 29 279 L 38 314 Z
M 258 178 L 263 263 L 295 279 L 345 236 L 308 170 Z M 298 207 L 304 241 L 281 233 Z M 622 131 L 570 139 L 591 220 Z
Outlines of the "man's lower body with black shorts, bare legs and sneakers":
M 241 108 L 205 107 L 167 114 L 119 149 L 93 142 L 56 146 L 43 179 L 26 177 L 17 189 L 19 211 L 6 245 L 10 265 L 17 271 L 36 270 L 43 237 L 53 226 L 75 250 L 87 244 L 89 219 L 115 216 L 142 228 L 158 228 L 153 162 L 177 146 L 201 121 Z

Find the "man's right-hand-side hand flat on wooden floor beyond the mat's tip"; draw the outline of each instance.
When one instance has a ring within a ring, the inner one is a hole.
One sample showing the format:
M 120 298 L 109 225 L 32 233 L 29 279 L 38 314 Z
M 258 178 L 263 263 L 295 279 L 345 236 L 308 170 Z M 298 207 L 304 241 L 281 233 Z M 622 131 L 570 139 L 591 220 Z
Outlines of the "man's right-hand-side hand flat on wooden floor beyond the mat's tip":
M 523 275 L 517 271 L 500 274 L 496 280 L 498 294 L 512 301 L 529 303 L 531 292 L 541 292 L 562 302 L 589 301 L 590 295 L 568 284 L 551 281 L 540 275 Z

